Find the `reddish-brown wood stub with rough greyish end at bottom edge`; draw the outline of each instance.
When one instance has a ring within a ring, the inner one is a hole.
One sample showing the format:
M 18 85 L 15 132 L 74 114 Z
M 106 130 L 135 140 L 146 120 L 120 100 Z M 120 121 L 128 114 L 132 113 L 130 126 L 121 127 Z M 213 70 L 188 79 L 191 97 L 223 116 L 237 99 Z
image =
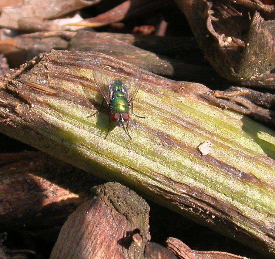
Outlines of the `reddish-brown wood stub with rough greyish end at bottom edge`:
M 94 191 L 63 225 L 50 258 L 144 258 L 148 204 L 119 183 Z

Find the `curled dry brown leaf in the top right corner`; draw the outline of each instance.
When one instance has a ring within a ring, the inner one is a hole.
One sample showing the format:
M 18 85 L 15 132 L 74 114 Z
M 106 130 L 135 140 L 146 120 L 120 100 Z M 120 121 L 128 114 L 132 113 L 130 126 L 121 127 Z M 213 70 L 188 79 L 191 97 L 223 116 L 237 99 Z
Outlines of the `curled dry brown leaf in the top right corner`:
M 275 67 L 274 6 L 260 1 L 177 0 L 216 71 L 249 81 Z

